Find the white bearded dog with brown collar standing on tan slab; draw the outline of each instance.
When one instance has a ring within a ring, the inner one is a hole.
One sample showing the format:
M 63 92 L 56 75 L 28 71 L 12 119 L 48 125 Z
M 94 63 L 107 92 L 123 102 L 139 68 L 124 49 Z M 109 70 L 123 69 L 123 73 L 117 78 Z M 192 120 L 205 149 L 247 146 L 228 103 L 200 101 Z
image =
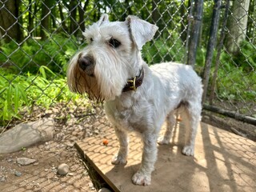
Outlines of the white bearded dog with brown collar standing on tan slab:
M 142 163 L 132 181 L 144 186 L 150 185 L 163 122 L 166 120 L 167 130 L 160 144 L 170 142 L 174 112 L 183 106 L 190 134 L 182 153 L 194 155 L 202 110 L 202 82 L 191 66 L 166 62 L 149 67 L 142 60 L 142 46 L 156 30 L 157 26 L 135 16 L 110 22 L 103 14 L 83 33 L 88 46 L 74 55 L 67 70 L 71 91 L 105 101 L 106 116 L 120 144 L 113 164 L 126 164 L 127 132 L 134 130 L 142 136 Z

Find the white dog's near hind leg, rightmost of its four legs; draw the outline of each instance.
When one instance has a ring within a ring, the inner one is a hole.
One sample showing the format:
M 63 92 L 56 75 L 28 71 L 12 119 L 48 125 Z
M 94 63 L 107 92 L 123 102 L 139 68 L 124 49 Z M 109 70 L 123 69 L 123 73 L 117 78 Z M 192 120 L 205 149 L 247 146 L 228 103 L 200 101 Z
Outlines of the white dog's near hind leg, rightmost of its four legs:
M 194 155 L 194 141 L 198 130 L 199 122 L 201 121 L 201 101 L 188 102 L 184 111 L 186 114 L 186 143 L 182 149 L 182 154 Z M 187 133 L 188 132 L 188 133 Z

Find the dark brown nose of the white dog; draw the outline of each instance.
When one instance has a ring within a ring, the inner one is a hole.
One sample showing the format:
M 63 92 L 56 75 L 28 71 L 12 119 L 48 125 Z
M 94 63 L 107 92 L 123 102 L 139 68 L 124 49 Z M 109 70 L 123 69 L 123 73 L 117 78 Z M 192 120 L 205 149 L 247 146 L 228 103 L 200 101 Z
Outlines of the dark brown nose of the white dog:
M 78 58 L 78 65 L 81 70 L 86 72 L 90 77 L 94 77 L 94 58 L 91 56 L 83 56 Z

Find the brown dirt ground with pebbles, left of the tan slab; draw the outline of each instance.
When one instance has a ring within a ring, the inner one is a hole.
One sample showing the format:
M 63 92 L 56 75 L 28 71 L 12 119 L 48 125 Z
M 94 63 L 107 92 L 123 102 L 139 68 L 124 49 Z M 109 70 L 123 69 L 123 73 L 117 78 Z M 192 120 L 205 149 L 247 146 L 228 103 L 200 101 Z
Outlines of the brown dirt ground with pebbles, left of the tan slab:
M 0 191 L 97 191 L 101 183 L 94 185 L 97 178 L 90 178 L 90 171 L 86 170 L 74 143 L 101 134 L 101 125 L 108 125 L 102 106 L 75 103 L 54 106 L 46 111 L 35 109 L 33 115 L 24 114 L 21 122 L 44 117 L 54 118 L 54 139 L 12 154 L 0 154 Z M 212 118 L 206 117 L 207 119 L 210 121 Z M 12 123 L 10 127 L 18 122 Z M 255 126 L 251 130 L 254 133 Z M 20 157 L 34 158 L 37 161 L 28 166 L 19 166 L 16 159 Z M 66 176 L 57 174 L 57 167 L 61 163 L 70 166 L 70 172 Z

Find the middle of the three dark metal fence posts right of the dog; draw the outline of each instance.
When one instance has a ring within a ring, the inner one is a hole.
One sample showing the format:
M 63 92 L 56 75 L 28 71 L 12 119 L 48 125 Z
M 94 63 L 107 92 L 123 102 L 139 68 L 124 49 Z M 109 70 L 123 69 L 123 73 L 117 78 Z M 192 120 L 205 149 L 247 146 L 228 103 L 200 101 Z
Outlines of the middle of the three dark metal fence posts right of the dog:
M 212 58 L 214 56 L 214 46 L 216 44 L 216 38 L 218 34 L 219 9 L 220 9 L 221 3 L 222 3 L 221 0 L 214 0 L 213 17 L 210 24 L 210 37 L 209 37 L 207 51 L 206 51 L 206 64 L 205 64 L 204 74 L 202 78 L 202 83 L 203 83 L 202 102 L 205 102 L 206 100 L 206 94 L 207 94 L 207 88 L 208 88 L 209 76 L 210 76 L 210 66 L 211 66 Z

